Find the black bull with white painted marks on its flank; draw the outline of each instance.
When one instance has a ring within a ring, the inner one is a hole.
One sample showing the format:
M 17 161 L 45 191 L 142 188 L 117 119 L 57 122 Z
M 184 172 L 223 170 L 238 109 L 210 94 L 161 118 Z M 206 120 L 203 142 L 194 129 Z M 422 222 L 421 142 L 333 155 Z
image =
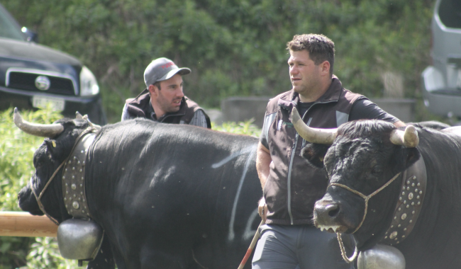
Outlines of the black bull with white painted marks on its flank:
M 63 132 L 34 154 L 37 193 L 88 127 L 86 120 L 57 123 Z M 118 269 L 237 268 L 260 222 L 256 147 L 255 137 L 189 125 L 136 119 L 102 127 L 84 178 L 89 212 L 105 236 L 88 268 L 114 268 L 114 261 Z M 22 210 L 43 214 L 30 183 L 18 200 Z M 59 222 L 71 217 L 60 180 L 42 202 Z

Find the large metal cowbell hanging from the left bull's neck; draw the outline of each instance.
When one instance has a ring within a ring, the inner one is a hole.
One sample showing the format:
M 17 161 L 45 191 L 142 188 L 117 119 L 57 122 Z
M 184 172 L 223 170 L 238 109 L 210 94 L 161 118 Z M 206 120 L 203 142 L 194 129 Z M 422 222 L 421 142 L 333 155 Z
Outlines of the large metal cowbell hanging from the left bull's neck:
M 91 261 L 101 247 L 104 231 L 92 220 L 67 219 L 57 227 L 62 258 Z

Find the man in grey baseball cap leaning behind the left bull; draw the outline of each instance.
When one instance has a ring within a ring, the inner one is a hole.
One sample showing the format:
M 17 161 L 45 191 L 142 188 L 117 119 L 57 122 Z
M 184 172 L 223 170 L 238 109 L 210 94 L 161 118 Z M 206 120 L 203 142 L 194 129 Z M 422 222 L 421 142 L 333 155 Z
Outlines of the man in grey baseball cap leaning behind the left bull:
M 191 69 L 179 68 L 172 60 L 158 58 L 144 71 L 145 90 L 126 100 L 121 120 L 147 118 L 156 122 L 189 124 L 211 128 L 203 108 L 184 96 L 182 76 Z

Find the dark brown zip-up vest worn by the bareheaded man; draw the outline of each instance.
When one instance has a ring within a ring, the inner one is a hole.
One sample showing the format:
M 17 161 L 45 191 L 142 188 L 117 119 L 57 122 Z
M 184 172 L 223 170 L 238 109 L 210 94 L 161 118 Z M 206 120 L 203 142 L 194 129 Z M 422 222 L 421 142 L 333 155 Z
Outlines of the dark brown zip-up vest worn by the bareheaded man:
M 311 127 L 338 127 L 348 121 L 352 104 L 359 98 L 365 97 L 346 90 L 333 76 L 326 93 L 302 118 Z M 326 172 L 309 166 L 300 156 L 306 142 L 291 123 L 291 109 L 298 102 L 298 93 L 291 90 L 267 104 L 262 132 L 266 132 L 272 162 L 264 188 L 266 224 L 312 224 L 314 203 L 326 192 Z

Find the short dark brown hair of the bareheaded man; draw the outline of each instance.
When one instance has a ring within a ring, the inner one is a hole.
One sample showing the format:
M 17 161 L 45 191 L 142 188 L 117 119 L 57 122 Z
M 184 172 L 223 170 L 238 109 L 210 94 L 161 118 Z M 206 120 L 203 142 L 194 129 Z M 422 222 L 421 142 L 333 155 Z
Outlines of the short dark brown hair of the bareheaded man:
M 294 35 L 293 40 L 287 42 L 287 50 L 293 52 L 307 50 L 309 57 L 316 65 L 328 61 L 330 63 L 330 74 L 333 75 L 335 43 L 325 35 Z

